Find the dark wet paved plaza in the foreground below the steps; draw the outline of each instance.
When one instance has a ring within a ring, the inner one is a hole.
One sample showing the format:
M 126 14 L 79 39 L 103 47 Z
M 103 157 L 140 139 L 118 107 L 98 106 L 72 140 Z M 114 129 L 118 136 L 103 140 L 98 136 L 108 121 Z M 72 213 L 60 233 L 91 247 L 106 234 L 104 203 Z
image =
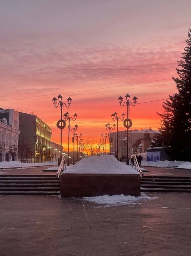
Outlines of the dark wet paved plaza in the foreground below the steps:
M 105 208 L 56 196 L 0 197 L 1 256 L 189 256 L 190 194 Z

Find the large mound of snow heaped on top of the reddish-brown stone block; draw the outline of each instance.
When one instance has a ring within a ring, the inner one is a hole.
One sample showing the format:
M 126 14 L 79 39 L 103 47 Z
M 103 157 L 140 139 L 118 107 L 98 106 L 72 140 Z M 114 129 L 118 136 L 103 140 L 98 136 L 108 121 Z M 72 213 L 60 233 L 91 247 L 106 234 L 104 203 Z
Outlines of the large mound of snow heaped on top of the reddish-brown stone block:
M 83 158 L 64 173 L 139 174 L 129 165 L 124 165 L 113 155 Z

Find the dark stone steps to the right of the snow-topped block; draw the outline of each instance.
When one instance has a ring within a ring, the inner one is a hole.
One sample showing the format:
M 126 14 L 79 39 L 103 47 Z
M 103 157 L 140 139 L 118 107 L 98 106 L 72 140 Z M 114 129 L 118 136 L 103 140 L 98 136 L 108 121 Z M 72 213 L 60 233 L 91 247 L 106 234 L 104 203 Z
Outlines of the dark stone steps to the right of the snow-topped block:
M 191 177 L 144 176 L 141 192 L 191 192 Z

